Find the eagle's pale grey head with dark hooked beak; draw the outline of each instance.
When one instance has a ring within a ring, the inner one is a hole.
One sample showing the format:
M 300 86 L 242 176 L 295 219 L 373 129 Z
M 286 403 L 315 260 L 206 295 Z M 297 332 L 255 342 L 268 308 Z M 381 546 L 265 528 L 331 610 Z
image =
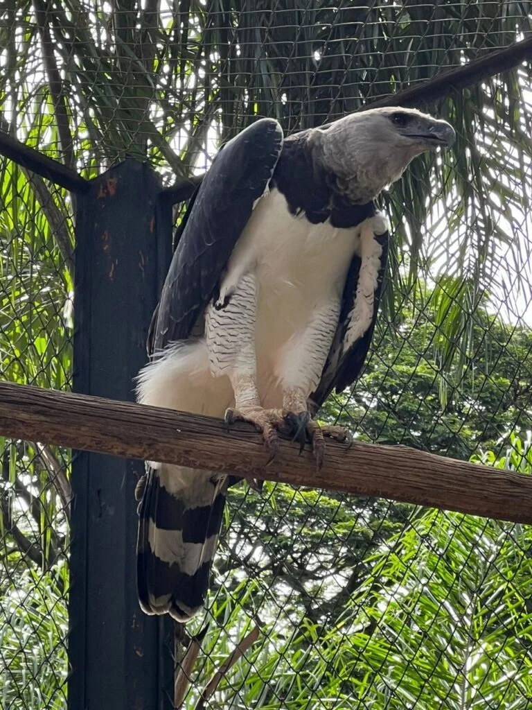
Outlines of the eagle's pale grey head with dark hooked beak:
M 309 137 L 316 160 L 336 176 L 350 202 L 366 204 L 399 180 L 423 151 L 451 146 L 455 131 L 447 121 L 417 109 L 383 107 L 349 114 Z

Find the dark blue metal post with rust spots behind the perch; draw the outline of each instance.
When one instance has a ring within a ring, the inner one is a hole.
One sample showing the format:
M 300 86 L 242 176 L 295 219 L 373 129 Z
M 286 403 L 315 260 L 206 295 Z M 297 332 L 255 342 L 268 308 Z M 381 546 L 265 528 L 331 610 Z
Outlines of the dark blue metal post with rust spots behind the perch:
M 172 208 L 126 160 L 79 195 L 74 391 L 133 400 L 172 253 Z M 69 710 L 172 706 L 172 624 L 138 606 L 135 484 L 143 463 L 77 452 L 72 465 Z

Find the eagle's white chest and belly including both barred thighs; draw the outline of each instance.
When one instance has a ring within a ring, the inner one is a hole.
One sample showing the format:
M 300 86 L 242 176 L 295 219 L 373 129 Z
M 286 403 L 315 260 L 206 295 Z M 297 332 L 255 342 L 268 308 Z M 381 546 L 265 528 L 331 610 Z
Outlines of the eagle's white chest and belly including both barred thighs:
M 223 307 L 207 312 L 211 371 L 237 367 L 251 374 L 256 364 L 261 396 L 272 401 L 279 383 L 310 392 L 321 376 L 360 246 L 360 227 L 311 224 L 290 214 L 277 190 L 263 197 L 229 260 L 217 302 Z

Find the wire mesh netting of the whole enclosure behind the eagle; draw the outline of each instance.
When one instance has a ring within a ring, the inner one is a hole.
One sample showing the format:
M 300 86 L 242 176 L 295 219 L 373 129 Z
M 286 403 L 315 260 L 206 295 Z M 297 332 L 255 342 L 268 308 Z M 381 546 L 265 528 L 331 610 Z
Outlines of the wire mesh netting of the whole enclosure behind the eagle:
M 132 155 L 170 184 L 257 116 L 320 125 L 521 41 L 532 4 L 8 0 L 1 13 L 0 129 L 86 178 Z M 393 236 L 372 351 L 324 420 L 530 472 L 531 97 L 516 62 L 419 104 L 457 141 L 382 197 Z M 0 165 L 1 376 L 68 388 L 75 198 Z M 0 704 L 62 708 L 69 455 L 0 443 Z M 265 484 L 232 489 L 225 530 L 187 708 L 528 707 L 530 528 Z

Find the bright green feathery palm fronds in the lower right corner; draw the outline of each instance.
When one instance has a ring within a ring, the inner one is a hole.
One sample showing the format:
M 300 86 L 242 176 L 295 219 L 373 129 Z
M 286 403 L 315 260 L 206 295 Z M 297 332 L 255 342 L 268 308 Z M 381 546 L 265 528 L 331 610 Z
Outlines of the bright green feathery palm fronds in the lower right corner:
M 532 474 L 528 440 L 480 459 Z M 353 692 L 375 708 L 526 708 L 532 696 L 532 530 L 417 511 L 367 561 L 336 633 Z M 369 603 L 368 603 L 369 602 Z

